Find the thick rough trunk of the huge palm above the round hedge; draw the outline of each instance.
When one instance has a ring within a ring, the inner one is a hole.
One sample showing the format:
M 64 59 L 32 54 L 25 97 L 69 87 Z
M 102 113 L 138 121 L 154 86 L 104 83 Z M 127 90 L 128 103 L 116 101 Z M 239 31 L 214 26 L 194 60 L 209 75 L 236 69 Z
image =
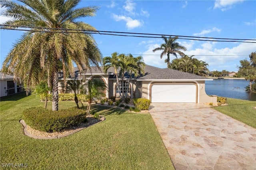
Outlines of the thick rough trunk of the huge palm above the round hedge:
M 52 79 L 52 111 L 58 111 L 58 70 L 53 73 Z

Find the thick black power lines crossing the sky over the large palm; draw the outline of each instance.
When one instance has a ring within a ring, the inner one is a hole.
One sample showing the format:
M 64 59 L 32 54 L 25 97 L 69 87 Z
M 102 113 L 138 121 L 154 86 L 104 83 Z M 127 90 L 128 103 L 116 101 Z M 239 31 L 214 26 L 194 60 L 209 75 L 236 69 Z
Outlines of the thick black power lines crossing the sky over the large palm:
M 167 34 L 147 34 L 147 33 L 134 33 L 134 32 L 112 32 L 112 31 L 99 31 L 99 30 L 80 30 L 80 29 L 66 29 L 66 28 L 45 28 L 45 27 L 32 27 L 32 26 L 13 26 L 13 25 L 2 25 L 0 24 L 0 29 L 6 30 L 20 30 L 20 31 L 31 31 L 31 32 L 51 32 L 51 33 L 62 33 L 62 34 L 101 34 L 101 35 L 110 35 L 110 36 L 126 36 L 126 37 L 140 37 L 140 38 L 162 38 L 162 36 L 177 36 L 177 35 L 167 35 Z M 3 28 L 3 27 L 16 27 L 16 28 Z M 32 29 L 41 29 L 41 30 L 26 30 L 18 28 L 32 28 Z M 60 30 L 60 31 L 51 31 L 51 30 Z M 71 31 L 71 32 L 70 32 Z M 115 33 L 115 34 L 113 34 Z M 135 35 L 127 35 L 135 34 Z M 142 36 L 139 36 L 142 35 Z M 150 36 L 145 36 L 150 35 Z M 161 36 L 161 37 L 160 37 Z M 180 38 L 184 37 L 184 38 Z M 181 40 L 196 40 L 196 41 L 210 41 L 210 42 L 242 42 L 242 43 L 256 43 L 256 42 L 246 42 L 246 41 L 256 41 L 253 39 L 234 39 L 234 38 L 210 38 L 210 37 L 196 37 L 196 36 L 178 36 Z M 200 38 L 200 39 L 195 39 Z M 210 39 L 210 40 L 202 40 Z M 214 40 L 215 39 L 215 40 Z

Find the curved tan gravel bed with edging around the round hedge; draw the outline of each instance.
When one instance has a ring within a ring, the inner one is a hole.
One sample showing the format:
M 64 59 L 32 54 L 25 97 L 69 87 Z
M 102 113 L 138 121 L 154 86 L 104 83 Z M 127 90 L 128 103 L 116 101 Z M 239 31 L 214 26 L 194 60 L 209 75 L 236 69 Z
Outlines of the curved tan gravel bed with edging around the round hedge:
M 31 128 L 30 126 L 26 125 L 26 123 L 22 119 L 20 120 L 20 123 L 24 127 L 24 134 L 26 136 L 29 136 L 35 139 L 56 139 L 56 138 L 63 138 L 63 137 L 69 136 L 71 134 L 79 132 L 80 130 L 83 130 L 84 128 L 100 123 L 105 120 L 105 117 L 100 115 L 100 119 L 95 119 L 92 116 L 88 116 L 87 120 L 88 122 L 86 123 L 80 123 L 79 125 L 66 129 L 62 132 L 52 132 L 52 133 L 35 130 L 34 128 Z

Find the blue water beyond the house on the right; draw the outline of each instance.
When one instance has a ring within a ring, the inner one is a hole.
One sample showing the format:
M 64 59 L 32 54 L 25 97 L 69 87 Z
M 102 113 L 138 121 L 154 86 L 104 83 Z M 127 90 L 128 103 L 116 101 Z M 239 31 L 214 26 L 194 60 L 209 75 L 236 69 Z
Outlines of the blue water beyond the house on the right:
M 245 91 L 247 85 L 249 81 L 244 79 L 213 79 L 213 81 L 205 81 L 205 91 L 208 95 L 256 101 L 256 93 Z

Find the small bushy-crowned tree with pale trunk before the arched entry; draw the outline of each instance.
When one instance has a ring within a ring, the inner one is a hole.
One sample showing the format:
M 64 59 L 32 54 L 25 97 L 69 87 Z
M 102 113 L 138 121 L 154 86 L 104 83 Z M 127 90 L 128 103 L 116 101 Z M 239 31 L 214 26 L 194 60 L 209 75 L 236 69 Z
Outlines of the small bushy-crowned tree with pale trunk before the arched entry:
M 105 95 L 104 93 L 102 93 L 102 91 L 106 89 L 106 85 L 104 81 L 100 80 L 100 78 L 92 78 L 85 83 L 85 86 L 87 87 L 89 98 L 88 106 L 86 109 L 86 115 L 88 115 L 90 113 L 93 98 L 98 98 L 101 95 Z

